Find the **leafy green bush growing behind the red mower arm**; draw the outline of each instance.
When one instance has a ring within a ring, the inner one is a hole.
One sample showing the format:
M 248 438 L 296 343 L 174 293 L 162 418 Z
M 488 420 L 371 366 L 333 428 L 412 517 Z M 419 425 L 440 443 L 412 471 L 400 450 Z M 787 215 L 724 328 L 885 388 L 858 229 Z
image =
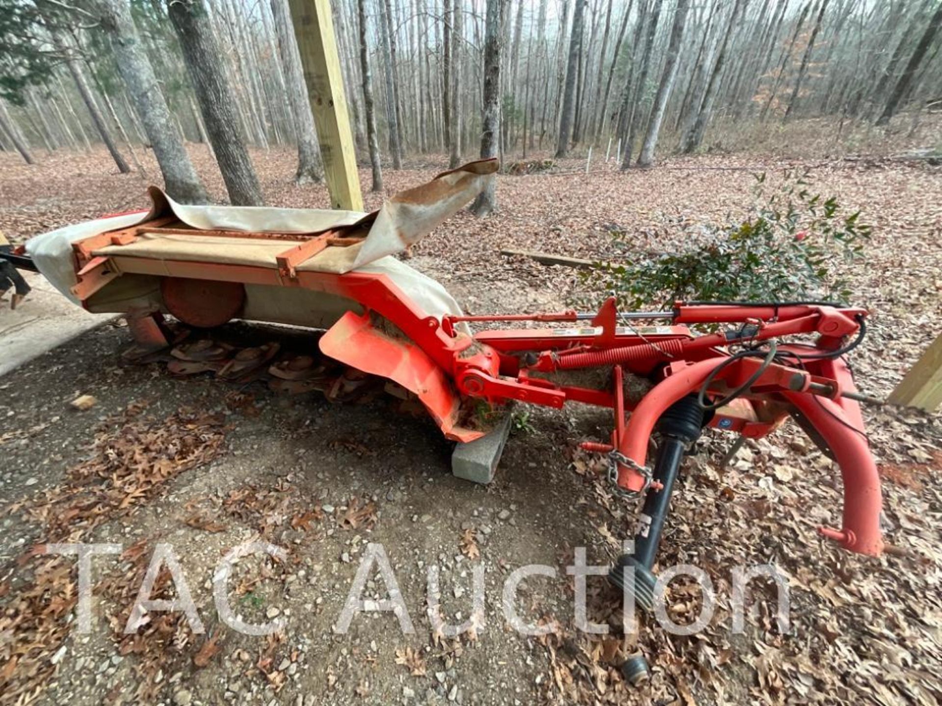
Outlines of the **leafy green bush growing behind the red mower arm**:
M 870 227 L 859 212 L 840 213 L 834 197 L 809 190 L 807 172 L 786 172 L 771 188 L 755 176 L 748 217 L 725 226 L 705 224 L 690 233 L 696 247 L 638 257 L 631 235 L 613 233 L 627 265 L 599 264 L 587 275 L 593 290 L 613 293 L 623 310 L 675 300 L 847 300 L 841 265 L 863 257 Z

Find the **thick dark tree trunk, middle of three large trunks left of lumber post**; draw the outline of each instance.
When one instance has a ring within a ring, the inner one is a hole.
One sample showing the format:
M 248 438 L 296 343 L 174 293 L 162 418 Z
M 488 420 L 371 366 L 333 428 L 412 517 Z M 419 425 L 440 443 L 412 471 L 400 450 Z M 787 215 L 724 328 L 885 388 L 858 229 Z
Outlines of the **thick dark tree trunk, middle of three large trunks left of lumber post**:
M 206 132 L 213 143 L 222 181 L 235 206 L 261 206 L 265 200 L 258 185 L 249 152 L 239 135 L 235 98 L 219 54 L 203 0 L 167 0 L 167 12 L 180 38 L 184 61 L 196 99 L 203 113 Z

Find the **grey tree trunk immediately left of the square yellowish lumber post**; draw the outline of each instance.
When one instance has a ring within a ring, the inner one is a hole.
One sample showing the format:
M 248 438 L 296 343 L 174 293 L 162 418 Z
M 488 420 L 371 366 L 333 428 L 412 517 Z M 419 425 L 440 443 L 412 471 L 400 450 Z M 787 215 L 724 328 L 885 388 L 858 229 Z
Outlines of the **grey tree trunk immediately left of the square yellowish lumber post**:
M 298 140 L 298 172 L 295 174 L 295 182 L 299 185 L 320 182 L 324 178 L 320 145 L 317 142 L 314 116 L 311 115 L 311 102 L 308 99 L 307 84 L 304 83 L 304 72 L 300 67 L 298 40 L 295 39 L 286 0 L 271 0 L 271 15 L 275 20 L 275 34 L 278 35 L 288 105 Z

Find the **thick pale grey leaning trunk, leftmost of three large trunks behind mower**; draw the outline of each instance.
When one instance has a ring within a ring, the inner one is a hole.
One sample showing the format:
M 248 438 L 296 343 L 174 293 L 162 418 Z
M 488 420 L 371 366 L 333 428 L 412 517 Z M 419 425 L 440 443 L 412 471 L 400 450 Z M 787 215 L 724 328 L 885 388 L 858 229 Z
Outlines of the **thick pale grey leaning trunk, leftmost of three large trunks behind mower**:
M 95 8 L 99 24 L 111 43 L 118 71 L 154 148 L 167 193 L 183 203 L 205 203 L 203 182 L 171 120 L 170 109 L 131 19 L 130 6 L 125 0 L 96 0 Z

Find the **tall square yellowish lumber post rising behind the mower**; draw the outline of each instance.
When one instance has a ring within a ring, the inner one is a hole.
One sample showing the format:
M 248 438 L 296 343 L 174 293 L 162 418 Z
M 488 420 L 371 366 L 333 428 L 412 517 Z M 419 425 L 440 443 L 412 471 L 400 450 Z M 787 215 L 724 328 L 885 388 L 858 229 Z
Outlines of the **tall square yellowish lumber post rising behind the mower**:
M 363 211 L 330 0 L 288 0 L 333 208 Z

